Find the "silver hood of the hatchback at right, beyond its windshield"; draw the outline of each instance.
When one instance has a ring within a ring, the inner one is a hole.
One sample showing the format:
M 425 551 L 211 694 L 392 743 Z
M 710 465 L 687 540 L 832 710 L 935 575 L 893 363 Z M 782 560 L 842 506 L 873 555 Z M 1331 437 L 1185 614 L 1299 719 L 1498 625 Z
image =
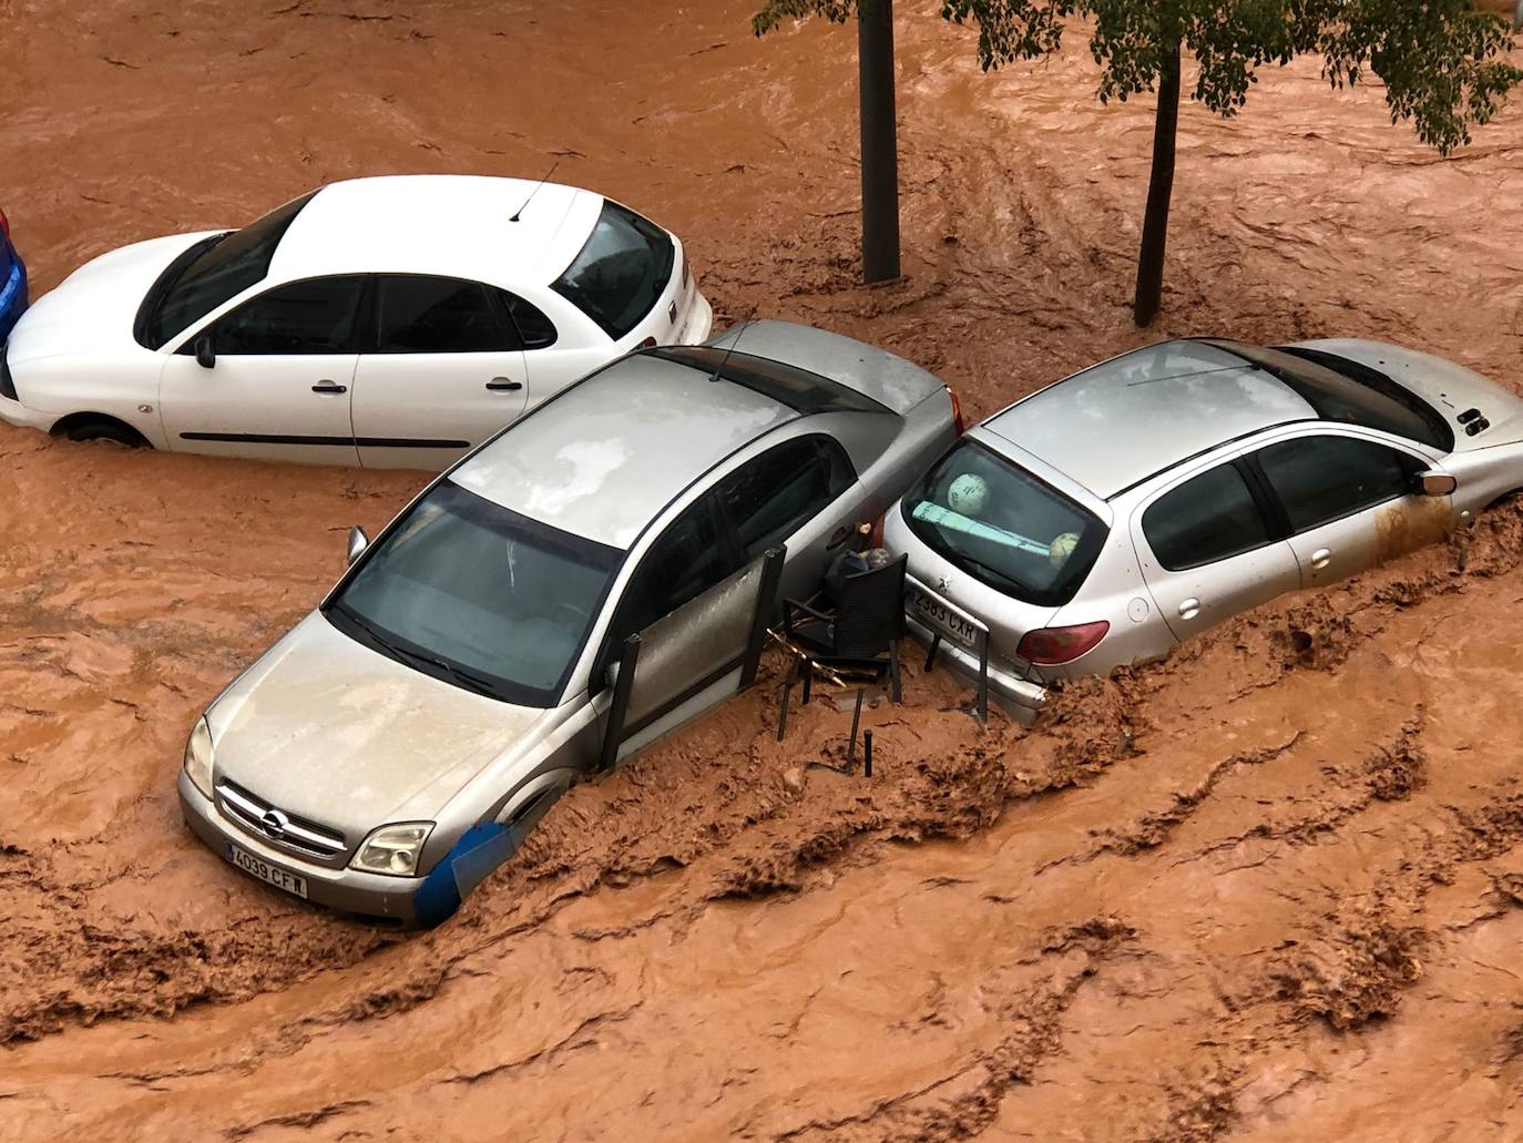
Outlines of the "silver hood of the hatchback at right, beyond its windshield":
M 1410 389 L 1448 421 L 1454 430 L 1456 453 L 1523 439 L 1523 401 L 1497 383 L 1453 361 L 1383 341 L 1327 338 L 1296 344 L 1378 369 L 1397 384 Z M 1479 408 L 1480 416 L 1489 422 L 1488 428 L 1474 436 L 1465 433 L 1456 419 L 1471 408 Z

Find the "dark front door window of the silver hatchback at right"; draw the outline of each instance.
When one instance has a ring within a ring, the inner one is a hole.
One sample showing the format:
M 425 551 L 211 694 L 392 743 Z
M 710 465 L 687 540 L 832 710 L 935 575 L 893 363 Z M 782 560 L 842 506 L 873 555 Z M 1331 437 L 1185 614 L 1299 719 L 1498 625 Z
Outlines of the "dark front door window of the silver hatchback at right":
M 1281 440 L 1256 457 L 1296 532 L 1407 495 L 1422 469 L 1406 453 L 1349 436 Z

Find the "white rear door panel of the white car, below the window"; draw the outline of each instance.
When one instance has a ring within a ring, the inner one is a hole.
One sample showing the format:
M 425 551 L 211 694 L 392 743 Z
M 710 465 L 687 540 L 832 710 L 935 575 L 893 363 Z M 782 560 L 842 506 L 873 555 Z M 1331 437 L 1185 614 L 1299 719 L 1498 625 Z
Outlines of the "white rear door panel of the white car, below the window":
M 359 463 L 439 472 L 516 421 L 528 393 L 521 352 L 362 354 L 352 405 Z

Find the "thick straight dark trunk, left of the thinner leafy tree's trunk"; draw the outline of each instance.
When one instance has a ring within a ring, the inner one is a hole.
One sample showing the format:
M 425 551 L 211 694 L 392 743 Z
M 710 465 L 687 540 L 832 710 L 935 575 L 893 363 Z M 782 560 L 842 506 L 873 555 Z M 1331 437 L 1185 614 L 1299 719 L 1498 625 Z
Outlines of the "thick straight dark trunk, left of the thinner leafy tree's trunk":
M 860 0 L 862 279 L 899 277 L 899 146 L 894 125 L 894 3 Z

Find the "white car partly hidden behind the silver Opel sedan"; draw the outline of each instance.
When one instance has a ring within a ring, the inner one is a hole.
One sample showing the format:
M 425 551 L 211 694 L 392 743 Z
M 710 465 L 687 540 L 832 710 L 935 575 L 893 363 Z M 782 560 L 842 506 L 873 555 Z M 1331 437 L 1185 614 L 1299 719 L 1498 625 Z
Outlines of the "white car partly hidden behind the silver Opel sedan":
M 681 241 L 602 195 L 358 178 L 76 270 L 0 351 L 0 418 L 177 453 L 442 469 L 585 373 L 704 341 L 711 322 Z

